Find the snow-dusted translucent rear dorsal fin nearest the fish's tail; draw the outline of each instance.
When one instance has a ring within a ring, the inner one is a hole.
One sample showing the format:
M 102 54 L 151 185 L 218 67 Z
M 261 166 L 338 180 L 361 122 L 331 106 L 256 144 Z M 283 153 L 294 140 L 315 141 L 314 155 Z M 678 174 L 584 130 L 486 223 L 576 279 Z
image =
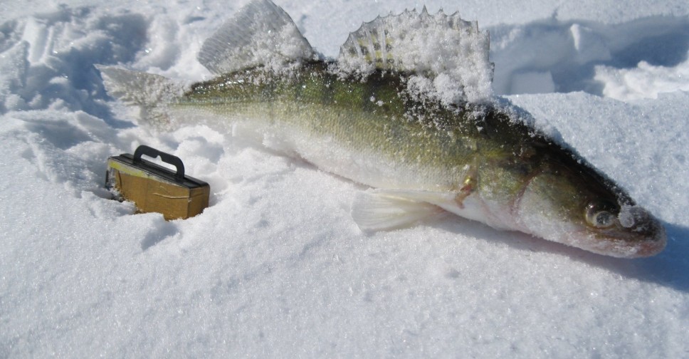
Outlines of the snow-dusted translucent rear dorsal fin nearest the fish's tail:
M 270 0 L 253 0 L 204 42 L 199 62 L 222 74 L 251 66 L 279 68 L 314 51 L 292 18 Z

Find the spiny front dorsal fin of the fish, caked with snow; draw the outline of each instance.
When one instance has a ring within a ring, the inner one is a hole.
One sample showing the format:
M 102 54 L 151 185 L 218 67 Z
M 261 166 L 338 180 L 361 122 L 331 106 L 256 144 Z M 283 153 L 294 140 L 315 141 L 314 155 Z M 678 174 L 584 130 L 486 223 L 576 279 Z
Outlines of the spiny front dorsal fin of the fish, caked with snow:
M 374 70 L 419 74 L 456 82 L 468 100 L 491 93 L 490 39 L 478 24 L 459 14 L 404 11 L 364 23 L 340 48 L 340 71 L 367 75 Z

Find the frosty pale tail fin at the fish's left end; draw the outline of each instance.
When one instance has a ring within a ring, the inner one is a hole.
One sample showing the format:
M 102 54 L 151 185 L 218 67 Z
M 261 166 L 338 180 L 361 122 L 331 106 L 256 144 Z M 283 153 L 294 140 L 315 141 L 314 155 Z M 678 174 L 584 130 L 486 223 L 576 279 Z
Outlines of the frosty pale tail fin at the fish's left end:
M 169 104 L 183 93 L 181 85 L 169 78 L 129 71 L 114 66 L 96 66 L 107 94 L 127 105 L 140 108 L 140 119 L 156 128 L 170 128 Z

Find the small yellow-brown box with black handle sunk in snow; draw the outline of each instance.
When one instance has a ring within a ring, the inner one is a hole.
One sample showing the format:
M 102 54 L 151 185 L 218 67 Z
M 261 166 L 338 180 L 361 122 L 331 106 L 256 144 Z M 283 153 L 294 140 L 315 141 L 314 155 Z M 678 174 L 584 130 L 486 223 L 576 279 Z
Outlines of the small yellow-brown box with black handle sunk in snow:
M 142 155 L 160 157 L 177 171 L 142 160 Z M 134 155 L 123 153 L 107 159 L 105 187 L 116 189 L 123 199 L 134 202 L 139 212 L 159 212 L 167 220 L 203 212 L 211 192 L 206 182 L 184 175 L 179 157 L 143 145 Z

